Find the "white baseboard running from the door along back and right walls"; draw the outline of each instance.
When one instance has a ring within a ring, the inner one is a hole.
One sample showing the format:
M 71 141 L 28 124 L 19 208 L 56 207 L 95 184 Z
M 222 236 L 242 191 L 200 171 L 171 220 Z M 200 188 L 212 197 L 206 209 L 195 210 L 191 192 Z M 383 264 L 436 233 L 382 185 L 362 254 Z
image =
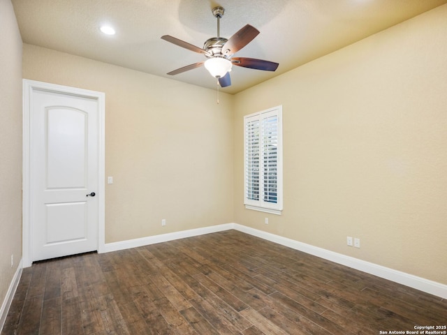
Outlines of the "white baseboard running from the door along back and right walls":
M 237 223 L 226 223 L 223 225 L 213 225 L 206 228 L 197 228 L 191 230 L 184 230 L 181 232 L 171 232 L 168 234 L 161 234 L 151 237 L 142 237 L 140 239 L 131 239 L 128 241 L 119 241 L 114 243 L 108 243 L 104 245 L 101 253 L 107 253 L 110 251 L 119 251 L 127 248 L 135 248 L 138 246 L 147 246 L 149 244 L 155 244 L 160 242 L 172 241 L 174 239 L 183 239 L 185 237 L 193 237 L 202 234 L 209 234 L 210 232 L 221 232 L 223 230 L 235 229 L 240 232 L 245 232 L 247 234 L 260 237 L 261 239 L 266 239 L 268 241 L 281 244 L 283 246 L 288 246 L 295 250 L 303 251 L 314 255 L 325 260 L 330 260 L 336 262 L 340 265 L 345 265 L 346 267 L 351 267 L 359 271 L 366 272 L 367 274 L 373 274 L 381 278 L 394 281 L 395 283 L 400 283 L 402 285 L 409 286 L 410 288 L 416 288 L 423 292 L 430 293 L 431 295 L 436 295 L 438 297 L 447 299 L 447 285 L 437 283 L 435 281 L 430 281 L 425 278 L 418 276 L 413 276 L 412 274 L 406 274 L 402 271 L 397 271 L 395 269 L 390 269 L 388 267 L 383 267 L 381 265 L 376 265 L 365 260 L 359 260 L 358 258 L 353 258 L 350 256 L 342 255 L 341 253 L 335 253 L 334 251 L 328 251 L 323 248 L 318 248 L 317 246 L 311 246 L 310 244 L 305 244 L 294 239 L 288 239 L 286 237 L 281 237 L 279 235 L 271 234 L 269 232 L 263 232 L 262 230 L 257 230 L 254 228 L 249 228 L 245 225 L 240 225 Z

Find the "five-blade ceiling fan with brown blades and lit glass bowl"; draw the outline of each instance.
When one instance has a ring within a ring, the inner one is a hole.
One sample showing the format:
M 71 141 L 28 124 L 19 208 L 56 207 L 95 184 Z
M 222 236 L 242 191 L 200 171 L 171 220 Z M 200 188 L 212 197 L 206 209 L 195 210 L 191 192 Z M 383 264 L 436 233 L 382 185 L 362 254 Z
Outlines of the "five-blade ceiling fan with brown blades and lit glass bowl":
M 263 59 L 254 59 L 247 57 L 233 57 L 237 51 L 251 42 L 258 34 L 258 29 L 252 27 L 250 24 L 245 25 L 230 38 L 223 38 L 220 36 L 220 19 L 225 13 L 222 7 L 214 7 L 212 9 L 214 17 L 217 18 L 217 37 L 209 38 L 205 41 L 203 48 L 196 47 L 186 43 L 184 40 L 179 40 L 173 36 L 161 36 L 163 40 L 170 43 L 184 47 L 185 49 L 197 52 L 207 57 L 206 61 L 199 61 L 182 68 L 177 68 L 168 73 L 168 75 L 178 75 L 193 68 L 205 66 L 213 77 L 219 80 L 221 87 L 228 87 L 231 85 L 230 70 L 233 66 L 242 66 L 244 68 L 254 68 L 255 70 L 274 71 L 278 67 L 278 63 L 273 61 L 264 61 Z

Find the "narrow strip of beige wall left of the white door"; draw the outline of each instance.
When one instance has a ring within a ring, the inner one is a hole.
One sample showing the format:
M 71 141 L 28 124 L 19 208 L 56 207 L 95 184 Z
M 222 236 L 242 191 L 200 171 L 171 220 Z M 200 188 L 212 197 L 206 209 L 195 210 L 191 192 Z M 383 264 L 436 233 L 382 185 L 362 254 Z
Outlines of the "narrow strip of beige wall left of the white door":
M 9 0 L 0 1 L 0 117 L 1 306 L 22 258 L 22 38 Z

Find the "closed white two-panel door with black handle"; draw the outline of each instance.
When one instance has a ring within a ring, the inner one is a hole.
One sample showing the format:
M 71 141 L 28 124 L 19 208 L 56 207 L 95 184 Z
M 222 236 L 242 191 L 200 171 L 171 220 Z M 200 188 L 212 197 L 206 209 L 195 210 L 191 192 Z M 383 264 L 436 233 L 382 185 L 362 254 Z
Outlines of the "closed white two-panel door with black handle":
M 98 250 L 99 101 L 29 92 L 31 262 Z

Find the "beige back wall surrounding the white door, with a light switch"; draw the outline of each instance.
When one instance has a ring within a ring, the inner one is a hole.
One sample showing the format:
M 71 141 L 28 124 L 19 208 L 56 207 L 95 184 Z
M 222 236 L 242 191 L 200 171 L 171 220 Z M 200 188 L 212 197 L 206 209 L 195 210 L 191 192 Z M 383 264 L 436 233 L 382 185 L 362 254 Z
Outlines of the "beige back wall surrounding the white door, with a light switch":
M 23 76 L 105 92 L 106 243 L 233 222 L 233 96 L 27 44 Z

